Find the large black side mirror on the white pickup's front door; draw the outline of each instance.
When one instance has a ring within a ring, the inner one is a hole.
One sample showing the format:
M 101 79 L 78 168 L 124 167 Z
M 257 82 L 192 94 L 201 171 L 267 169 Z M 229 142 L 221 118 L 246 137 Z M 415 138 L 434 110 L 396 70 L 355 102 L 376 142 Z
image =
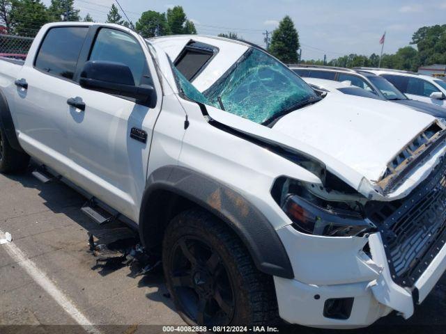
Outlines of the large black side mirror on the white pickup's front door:
M 134 85 L 130 67 L 112 61 L 87 61 L 82 69 L 79 84 L 82 88 L 102 93 L 132 97 L 143 104 L 150 104 L 155 94 L 152 86 Z

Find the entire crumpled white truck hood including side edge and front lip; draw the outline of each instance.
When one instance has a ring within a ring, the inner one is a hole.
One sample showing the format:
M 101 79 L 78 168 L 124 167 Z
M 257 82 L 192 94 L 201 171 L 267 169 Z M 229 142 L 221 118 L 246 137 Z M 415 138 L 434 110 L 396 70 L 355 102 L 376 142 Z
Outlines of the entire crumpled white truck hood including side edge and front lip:
M 206 109 L 211 120 L 314 157 L 353 189 L 376 200 L 403 198 L 445 154 L 445 145 L 441 145 L 400 186 L 383 194 L 376 180 L 387 163 L 435 121 L 432 116 L 399 104 L 330 93 L 320 102 L 284 116 L 272 128 L 213 106 Z

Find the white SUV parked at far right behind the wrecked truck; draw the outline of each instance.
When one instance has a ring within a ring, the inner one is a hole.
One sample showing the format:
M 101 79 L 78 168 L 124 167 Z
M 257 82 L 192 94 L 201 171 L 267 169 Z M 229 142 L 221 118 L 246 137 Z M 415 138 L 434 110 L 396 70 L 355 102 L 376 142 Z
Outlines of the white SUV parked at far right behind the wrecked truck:
M 446 81 L 414 72 L 358 67 L 384 77 L 410 99 L 446 108 Z

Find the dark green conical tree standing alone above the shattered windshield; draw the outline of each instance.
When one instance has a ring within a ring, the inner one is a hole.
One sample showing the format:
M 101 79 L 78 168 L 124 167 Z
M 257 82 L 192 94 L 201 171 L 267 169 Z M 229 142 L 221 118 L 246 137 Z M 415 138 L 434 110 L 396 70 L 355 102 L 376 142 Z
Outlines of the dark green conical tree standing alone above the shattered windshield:
M 286 15 L 279 22 L 279 27 L 272 32 L 269 51 L 284 63 L 298 61 L 299 35 L 295 30 L 293 20 Z

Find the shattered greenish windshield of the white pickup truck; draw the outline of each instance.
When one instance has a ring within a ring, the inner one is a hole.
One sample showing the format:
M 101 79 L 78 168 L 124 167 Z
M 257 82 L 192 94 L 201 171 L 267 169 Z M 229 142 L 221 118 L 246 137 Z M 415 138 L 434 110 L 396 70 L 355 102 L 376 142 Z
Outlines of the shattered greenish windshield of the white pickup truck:
M 263 123 L 301 102 L 317 99 L 314 90 L 288 67 L 259 49 L 250 48 L 203 95 L 224 110 Z M 302 104 L 303 105 L 303 104 Z

